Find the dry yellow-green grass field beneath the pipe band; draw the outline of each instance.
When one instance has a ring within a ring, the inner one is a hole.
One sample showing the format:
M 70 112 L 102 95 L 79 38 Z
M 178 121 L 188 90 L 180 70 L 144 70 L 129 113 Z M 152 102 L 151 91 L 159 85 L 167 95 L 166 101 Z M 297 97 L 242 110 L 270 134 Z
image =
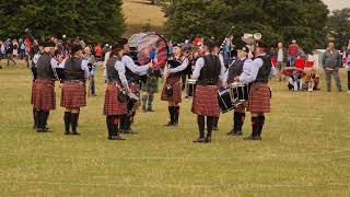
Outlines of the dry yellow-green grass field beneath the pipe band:
M 3 61 L 2 61 L 3 62 Z M 4 65 L 4 63 L 2 63 Z M 293 93 L 272 82 L 272 113 L 262 141 L 226 137 L 221 116 L 211 144 L 197 137 L 190 100 L 180 126 L 164 128 L 166 103 L 139 113 L 126 141 L 106 140 L 102 71 L 96 97 L 81 111 L 81 136 L 63 135 L 63 111 L 50 134 L 32 129 L 31 76 L 24 66 L 0 70 L 0 196 L 350 196 L 350 96 Z M 342 74 L 345 84 L 345 73 Z M 324 79 L 323 79 L 324 82 Z M 244 135 L 250 131 L 249 118 Z

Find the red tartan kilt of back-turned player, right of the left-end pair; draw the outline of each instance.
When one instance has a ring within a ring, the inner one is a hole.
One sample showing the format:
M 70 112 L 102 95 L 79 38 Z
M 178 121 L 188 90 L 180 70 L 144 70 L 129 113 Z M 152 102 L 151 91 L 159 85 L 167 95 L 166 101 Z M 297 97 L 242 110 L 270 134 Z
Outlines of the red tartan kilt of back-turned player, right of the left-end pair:
M 86 89 L 82 82 L 65 81 L 61 94 L 61 107 L 80 108 L 86 106 Z

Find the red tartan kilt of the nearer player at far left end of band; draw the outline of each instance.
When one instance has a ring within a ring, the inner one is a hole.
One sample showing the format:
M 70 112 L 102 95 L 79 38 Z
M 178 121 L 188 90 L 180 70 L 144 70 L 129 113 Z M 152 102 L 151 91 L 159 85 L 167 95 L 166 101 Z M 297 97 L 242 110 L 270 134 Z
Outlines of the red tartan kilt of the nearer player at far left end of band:
M 33 105 L 37 111 L 51 111 L 56 108 L 55 81 L 37 79 L 33 89 Z

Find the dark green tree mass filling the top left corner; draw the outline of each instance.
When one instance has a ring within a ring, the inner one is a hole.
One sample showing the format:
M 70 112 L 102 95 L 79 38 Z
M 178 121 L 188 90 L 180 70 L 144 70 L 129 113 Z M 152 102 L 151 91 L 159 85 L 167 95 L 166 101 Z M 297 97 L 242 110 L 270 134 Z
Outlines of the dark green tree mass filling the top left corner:
M 0 37 L 54 35 L 114 42 L 125 31 L 121 0 L 0 0 Z

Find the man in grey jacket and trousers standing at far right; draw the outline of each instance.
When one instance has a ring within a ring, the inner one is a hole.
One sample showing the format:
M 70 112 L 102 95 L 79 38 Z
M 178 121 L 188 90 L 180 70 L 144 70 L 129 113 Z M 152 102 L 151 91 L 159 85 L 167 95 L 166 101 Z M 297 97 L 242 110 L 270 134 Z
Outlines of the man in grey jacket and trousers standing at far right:
M 338 91 L 341 92 L 339 68 L 342 67 L 342 58 L 340 53 L 335 49 L 334 42 L 329 42 L 328 48 L 322 57 L 322 66 L 326 74 L 327 92 L 331 91 L 331 76 L 335 78 Z

